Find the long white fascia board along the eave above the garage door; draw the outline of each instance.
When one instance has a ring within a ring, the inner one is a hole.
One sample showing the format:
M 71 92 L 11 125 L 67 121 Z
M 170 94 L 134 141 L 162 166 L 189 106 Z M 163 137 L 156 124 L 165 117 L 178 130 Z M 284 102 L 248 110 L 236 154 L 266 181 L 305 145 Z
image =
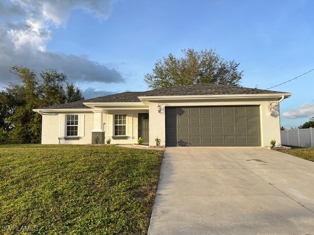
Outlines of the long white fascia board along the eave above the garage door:
M 158 100 L 204 100 L 204 99 L 261 99 L 261 98 L 288 98 L 291 93 L 271 94 L 211 94 L 211 95 L 164 95 L 164 96 L 139 96 L 141 101 Z

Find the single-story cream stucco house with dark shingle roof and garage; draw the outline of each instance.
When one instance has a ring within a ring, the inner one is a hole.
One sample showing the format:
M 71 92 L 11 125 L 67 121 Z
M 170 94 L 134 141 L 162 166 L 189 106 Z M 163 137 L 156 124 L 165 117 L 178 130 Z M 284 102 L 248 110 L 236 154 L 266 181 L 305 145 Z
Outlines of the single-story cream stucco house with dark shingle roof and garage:
M 290 93 L 201 83 L 124 92 L 34 109 L 43 144 L 144 143 L 269 146 L 280 143 L 279 103 Z

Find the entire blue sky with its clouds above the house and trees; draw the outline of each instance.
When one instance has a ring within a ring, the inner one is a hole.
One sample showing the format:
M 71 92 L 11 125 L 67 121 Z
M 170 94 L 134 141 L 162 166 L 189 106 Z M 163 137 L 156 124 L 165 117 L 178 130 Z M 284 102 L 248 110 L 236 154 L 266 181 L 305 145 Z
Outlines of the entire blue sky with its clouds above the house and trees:
M 144 74 L 168 53 L 215 48 L 267 89 L 314 69 L 312 0 L 0 0 L 0 87 L 9 68 L 64 71 L 86 98 L 149 90 Z M 314 71 L 272 88 L 281 124 L 314 117 Z

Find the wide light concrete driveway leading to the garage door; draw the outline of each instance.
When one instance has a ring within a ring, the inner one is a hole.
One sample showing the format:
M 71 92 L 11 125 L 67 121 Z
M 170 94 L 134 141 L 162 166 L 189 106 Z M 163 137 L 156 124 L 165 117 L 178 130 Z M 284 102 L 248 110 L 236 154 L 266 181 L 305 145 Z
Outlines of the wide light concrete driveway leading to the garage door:
M 262 147 L 167 147 L 148 235 L 314 235 L 314 162 Z

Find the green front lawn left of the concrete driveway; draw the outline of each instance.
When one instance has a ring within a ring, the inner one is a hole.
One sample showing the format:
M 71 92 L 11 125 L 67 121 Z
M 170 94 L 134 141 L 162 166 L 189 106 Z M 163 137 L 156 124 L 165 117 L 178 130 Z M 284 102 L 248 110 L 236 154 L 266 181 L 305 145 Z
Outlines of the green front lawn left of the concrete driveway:
M 162 155 L 117 146 L 1 145 L 0 231 L 146 234 Z

